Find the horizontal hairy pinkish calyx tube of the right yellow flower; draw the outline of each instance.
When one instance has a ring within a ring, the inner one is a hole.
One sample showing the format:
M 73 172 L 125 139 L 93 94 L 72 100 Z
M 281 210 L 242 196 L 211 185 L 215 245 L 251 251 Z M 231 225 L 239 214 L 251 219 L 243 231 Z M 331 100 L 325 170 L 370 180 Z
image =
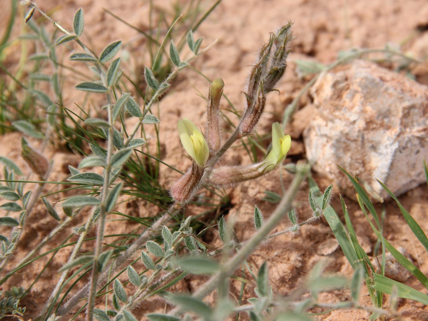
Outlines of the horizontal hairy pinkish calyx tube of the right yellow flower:
M 221 166 L 211 171 L 208 181 L 217 186 L 236 184 L 265 175 L 273 168 L 264 162 L 247 166 Z

